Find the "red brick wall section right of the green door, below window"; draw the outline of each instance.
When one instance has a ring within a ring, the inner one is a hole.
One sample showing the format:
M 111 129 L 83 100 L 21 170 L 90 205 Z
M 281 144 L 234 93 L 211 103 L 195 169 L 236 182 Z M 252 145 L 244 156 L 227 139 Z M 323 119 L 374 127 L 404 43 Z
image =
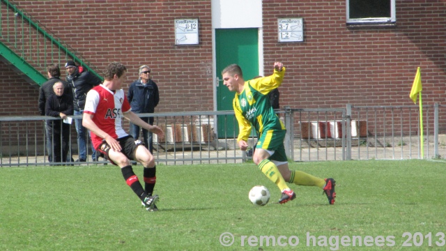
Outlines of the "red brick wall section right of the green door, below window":
M 387 29 L 348 28 L 343 0 L 305 2 L 263 1 L 265 61 L 283 61 L 293 72 L 281 89 L 282 102 L 413 105 L 408 94 L 420 66 L 424 104 L 445 104 L 444 1 L 397 0 L 397 26 Z M 305 43 L 277 43 L 278 17 L 303 17 Z

